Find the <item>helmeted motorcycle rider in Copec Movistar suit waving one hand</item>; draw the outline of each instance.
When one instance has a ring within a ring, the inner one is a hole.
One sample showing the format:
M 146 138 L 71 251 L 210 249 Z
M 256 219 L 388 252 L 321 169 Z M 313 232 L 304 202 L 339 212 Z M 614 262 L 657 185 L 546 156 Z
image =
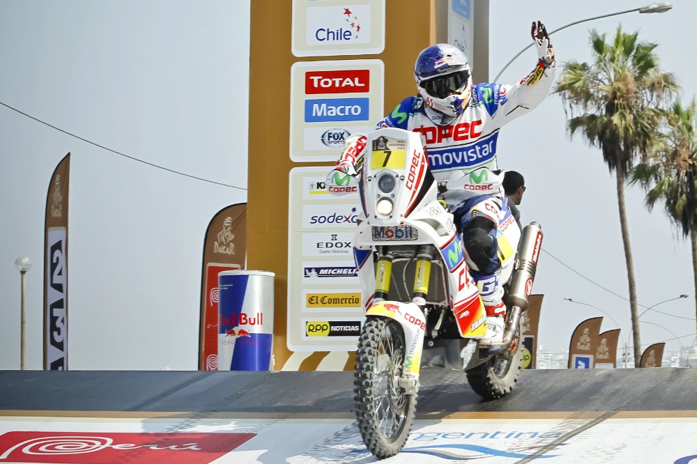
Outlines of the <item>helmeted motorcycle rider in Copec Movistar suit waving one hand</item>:
M 482 344 L 500 343 L 505 328 L 504 282 L 499 280 L 505 256 L 496 238 L 504 196 L 496 162 L 498 131 L 544 100 L 556 68 L 544 24 L 533 22 L 531 35 L 537 64 L 517 84 L 473 85 L 467 57 L 459 49 L 447 44 L 424 49 L 414 66 L 418 95 L 402 100 L 377 124 L 420 132 L 434 177 L 438 183 L 447 181 L 441 198 L 453 212 L 487 313 Z M 362 134 L 347 139 L 335 170 L 327 176 L 330 191 L 345 191 L 331 187 L 345 185 L 346 176 L 358 176 L 365 141 Z

